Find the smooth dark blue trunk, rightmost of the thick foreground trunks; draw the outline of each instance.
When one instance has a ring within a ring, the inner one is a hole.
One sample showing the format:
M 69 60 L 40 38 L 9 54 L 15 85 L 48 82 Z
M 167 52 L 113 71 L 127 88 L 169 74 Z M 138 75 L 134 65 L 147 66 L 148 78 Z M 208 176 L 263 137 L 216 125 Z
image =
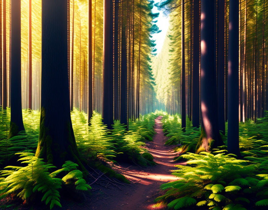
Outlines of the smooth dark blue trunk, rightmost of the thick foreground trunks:
M 229 153 L 239 151 L 239 1 L 229 3 L 228 134 Z

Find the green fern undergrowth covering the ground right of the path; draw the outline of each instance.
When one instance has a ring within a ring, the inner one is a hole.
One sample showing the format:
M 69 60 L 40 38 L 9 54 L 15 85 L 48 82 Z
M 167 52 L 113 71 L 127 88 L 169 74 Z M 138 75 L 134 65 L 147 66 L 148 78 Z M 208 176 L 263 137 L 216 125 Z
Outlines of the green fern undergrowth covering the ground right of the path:
M 175 144 L 181 150 L 185 145 L 196 145 L 200 129 L 195 131 L 188 126 L 187 131 L 186 127 L 188 137 L 185 138 L 178 116 L 165 115 L 162 121 L 167 136 L 173 137 L 168 144 Z M 187 153 L 177 160 L 187 160 L 186 165 L 178 165 L 172 173 L 179 180 L 163 184 L 161 189 L 166 193 L 156 200 L 168 203 L 171 209 L 188 209 L 189 206 L 214 210 L 267 209 L 267 127 L 267 114 L 257 123 L 240 123 L 241 160 L 235 155 L 227 155 L 226 145 L 214 149 L 213 154 L 201 152 L 197 155 L 184 151 Z M 191 137 L 193 140 L 189 142 Z M 226 144 L 226 136 L 222 135 L 222 138 Z

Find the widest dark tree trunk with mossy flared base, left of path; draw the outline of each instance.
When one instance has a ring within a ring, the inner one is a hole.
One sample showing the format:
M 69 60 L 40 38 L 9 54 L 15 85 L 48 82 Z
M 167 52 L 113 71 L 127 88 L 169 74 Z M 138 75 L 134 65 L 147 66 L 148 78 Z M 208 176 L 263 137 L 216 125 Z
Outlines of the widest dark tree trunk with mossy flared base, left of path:
M 74 138 L 68 92 L 67 1 L 42 1 L 42 91 L 35 156 L 61 167 L 83 167 Z

